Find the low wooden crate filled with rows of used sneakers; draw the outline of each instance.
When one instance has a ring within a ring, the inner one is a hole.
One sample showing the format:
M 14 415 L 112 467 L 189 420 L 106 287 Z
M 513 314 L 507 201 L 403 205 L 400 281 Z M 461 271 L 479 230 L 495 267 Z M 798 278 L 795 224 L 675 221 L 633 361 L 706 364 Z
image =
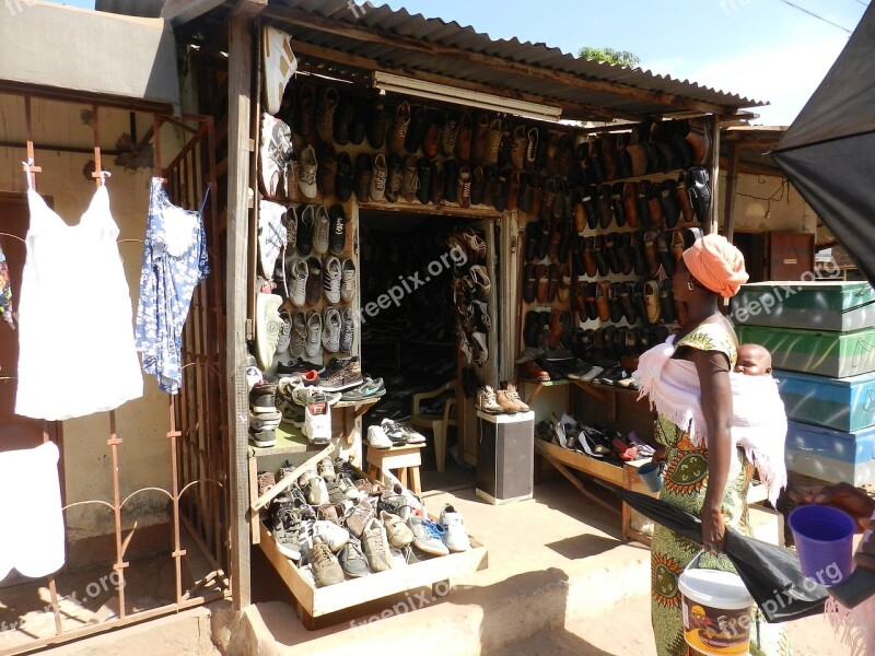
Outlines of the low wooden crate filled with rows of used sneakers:
M 384 487 L 327 453 L 258 477 L 259 500 L 270 499 L 260 514 L 260 547 L 307 629 L 487 566 L 486 547 L 468 536 L 453 506 L 430 517 L 409 490 Z

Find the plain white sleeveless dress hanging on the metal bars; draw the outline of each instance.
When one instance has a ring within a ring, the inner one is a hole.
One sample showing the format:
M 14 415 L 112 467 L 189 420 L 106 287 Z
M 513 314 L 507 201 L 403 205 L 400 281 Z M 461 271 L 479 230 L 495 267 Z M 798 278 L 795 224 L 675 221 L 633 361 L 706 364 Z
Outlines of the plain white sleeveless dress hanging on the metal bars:
M 105 186 L 78 225 L 34 189 L 19 302 L 15 412 L 60 421 L 143 394 L 118 226 Z

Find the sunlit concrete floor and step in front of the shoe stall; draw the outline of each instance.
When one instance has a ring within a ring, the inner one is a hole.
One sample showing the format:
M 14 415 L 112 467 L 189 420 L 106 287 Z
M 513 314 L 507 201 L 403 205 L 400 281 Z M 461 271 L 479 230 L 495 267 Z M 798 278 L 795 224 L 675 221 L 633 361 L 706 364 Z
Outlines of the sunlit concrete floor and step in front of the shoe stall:
M 452 472 L 451 472 L 452 473 Z M 464 484 L 458 472 L 448 485 Z M 606 501 L 607 490 L 587 483 Z M 551 478 L 536 487 L 535 499 L 489 505 L 470 487 L 424 494 L 440 513 L 452 503 L 470 534 L 489 549 L 489 567 L 453 581 L 443 598 L 429 598 L 415 612 L 393 614 L 352 626 L 381 609 L 386 599 L 361 609 L 358 619 L 307 631 L 290 607 L 288 594 L 261 600 L 243 625 L 262 653 L 332 654 L 354 642 L 357 651 L 410 649 L 418 656 L 497 655 L 653 656 L 650 629 L 650 551 L 620 540 L 619 515 L 585 500 L 570 483 Z M 619 509 L 619 503 L 616 504 Z M 262 572 L 270 579 L 270 564 Z M 271 588 L 273 586 L 270 586 Z M 822 617 L 788 624 L 797 656 L 849 653 Z M 256 653 L 256 652 L 253 652 Z

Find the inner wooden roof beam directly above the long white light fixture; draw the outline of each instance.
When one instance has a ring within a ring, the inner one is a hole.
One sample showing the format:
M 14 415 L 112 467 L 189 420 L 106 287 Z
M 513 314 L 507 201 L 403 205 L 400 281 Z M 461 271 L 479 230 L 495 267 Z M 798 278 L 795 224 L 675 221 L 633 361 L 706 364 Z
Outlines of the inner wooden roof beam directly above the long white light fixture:
M 515 101 L 525 101 L 527 103 L 544 103 L 545 99 L 541 96 L 537 96 L 530 93 L 523 93 L 511 89 L 500 89 L 495 86 L 489 86 L 486 84 L 478 84 L 477 82 L 468 82 L 467 80 L 456 80 L 454 78 L 447 78 L 445 75 L 436 75 L 434 73 L 427 73 L 424 71 L 416 71 L 400 66 L 392 66 L 388 63 L 378 62 L 375 59 L 360 57 L 358 55 L 350 55 L 349 52 L 341 52 L 340 50 L 332 50 L 331 48 L 324 48 L 322 46 L 315 46 L 313 44 L 307 44 L 300 40 L 294 42 L 294 54 L 296 56 L 303 55 L 305 57 L 314 57 L 316 59 L 323 59 L 325 61 L 336 61 L 338 63 L 352 66 L 366 71 L 394 73 L 396 75 L 416 78 L 417 80 L 422 80 L 423 82 L 434 82 L 435 84 L 456 86 L 458 89 L 465 89 L 467 91 L 488 93 L 490 95 L 505 97 L 505 98 L 513 98 Z M 632 114 L 626 114 L 622 112 L 620 113 L 608 112 L 603 107 L 586 105 L 584 103 L 572 103 L 558 98 L 551 98 L 550 101 L 562 106 L 563 109 L 562 118 L 568 118 L 568 116 L 565 116 L 565 110 L 570 110 L 574 113 L 575 118 L 583 117 L 583 119 L 600 118 L 605 120 L 612 120 L 615 118 L 622 118 L 627 120 L 640 120 L 640 117 Z

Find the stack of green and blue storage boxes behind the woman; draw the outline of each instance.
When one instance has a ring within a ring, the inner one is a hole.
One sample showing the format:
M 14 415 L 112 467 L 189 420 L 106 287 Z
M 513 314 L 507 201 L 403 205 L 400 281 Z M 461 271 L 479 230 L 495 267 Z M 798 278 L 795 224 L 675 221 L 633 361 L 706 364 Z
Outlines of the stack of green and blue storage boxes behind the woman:
M 875 292 L 867 282 L 762 282 L 733 298 L 742 343 L 772 354 L 786 465 L 819 480 L 875 480 Z

